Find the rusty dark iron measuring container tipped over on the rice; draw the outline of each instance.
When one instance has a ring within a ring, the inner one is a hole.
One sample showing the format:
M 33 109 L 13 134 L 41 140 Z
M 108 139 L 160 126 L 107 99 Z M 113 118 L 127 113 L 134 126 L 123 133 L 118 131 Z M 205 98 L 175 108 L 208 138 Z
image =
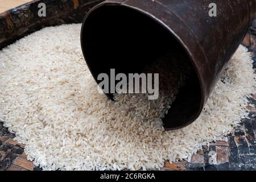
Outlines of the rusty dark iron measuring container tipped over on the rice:
M 163 119 L 166 129 L 180 129 L 199 117 L 254 14 L 255 0 L 107 0 L 86 15 L 81 46 L 96 81 L 110 68 L 136 73 L 168 49 L 183 52 L 195 71 Z

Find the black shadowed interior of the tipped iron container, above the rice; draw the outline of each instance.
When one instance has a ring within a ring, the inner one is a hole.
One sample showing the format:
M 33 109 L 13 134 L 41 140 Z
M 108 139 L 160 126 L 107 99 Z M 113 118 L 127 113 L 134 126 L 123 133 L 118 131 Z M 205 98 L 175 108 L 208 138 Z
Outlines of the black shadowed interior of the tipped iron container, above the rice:
M 166 52 L 187 55 L 174 36 L 156 20 L 124 6 L 101 6 L 92 11 L 82 28 L 82 48 L 90 71 L 141 73 L 145 65 Z M 192 66 L 193 67 L 193 66 Z M 113 99 L 113 94 L 107 94 Z M 163 119 L 166 129 L 178 129 L 192 122 L 201 105 L 199 79 L 194 70 L 187 84 Z

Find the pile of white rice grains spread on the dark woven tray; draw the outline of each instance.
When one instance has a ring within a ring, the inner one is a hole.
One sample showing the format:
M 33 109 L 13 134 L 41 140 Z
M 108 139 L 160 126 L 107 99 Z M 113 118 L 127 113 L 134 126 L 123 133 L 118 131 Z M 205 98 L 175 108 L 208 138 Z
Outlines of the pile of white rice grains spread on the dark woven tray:
M 80 28 L 44 28 L 0 51 L 0 117 L 36 166 L 160 169 L 165 160 L 190 160 L 202 145 L 225 140 L 248 114 L 255 75 L 246 48 L 233 56 L 200 117 L 165 131 L 158 109 L 141 108 L 144 117 L 129 108 L 138 100 L 112 102 L 97 92 L 82 56 Z

